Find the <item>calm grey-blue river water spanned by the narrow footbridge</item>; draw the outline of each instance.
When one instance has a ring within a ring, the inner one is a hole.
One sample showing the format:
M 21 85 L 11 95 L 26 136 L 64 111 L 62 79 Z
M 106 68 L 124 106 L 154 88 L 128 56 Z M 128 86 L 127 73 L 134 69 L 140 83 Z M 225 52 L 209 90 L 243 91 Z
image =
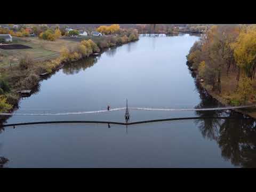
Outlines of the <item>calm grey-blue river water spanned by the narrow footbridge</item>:
M 197 36 L 141 36 L 98 57 L 66 65 L 19 103 L 16 113 L 124 107 L 205 108 L 220 104 L 193 78 L 186 55 Z M 231 117 L 219 119 L 207 117 Z M 231 111 L 131 111 L 131 122 L 202 117 L 125 126 L 51 124 L 6 127 L 5 167 L 255 167 L 256 123 Z M 236 119 L 234 119 L 236 118 Z M 68 116 L 13 116 L 36 121 L 124 122 L 124 111 Z

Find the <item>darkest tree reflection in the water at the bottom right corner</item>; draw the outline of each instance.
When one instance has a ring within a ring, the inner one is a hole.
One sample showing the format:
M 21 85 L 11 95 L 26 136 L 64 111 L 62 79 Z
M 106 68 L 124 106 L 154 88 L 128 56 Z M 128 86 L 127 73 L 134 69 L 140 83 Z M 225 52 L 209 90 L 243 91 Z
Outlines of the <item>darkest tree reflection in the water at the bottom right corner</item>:
M 256 121 L 241 119 L 241 114 L 231 111 L 230 117 L 220 126 L 220 137 L 217 142 L 221 155 L 230 159 L 235 166 L 256 167 Z

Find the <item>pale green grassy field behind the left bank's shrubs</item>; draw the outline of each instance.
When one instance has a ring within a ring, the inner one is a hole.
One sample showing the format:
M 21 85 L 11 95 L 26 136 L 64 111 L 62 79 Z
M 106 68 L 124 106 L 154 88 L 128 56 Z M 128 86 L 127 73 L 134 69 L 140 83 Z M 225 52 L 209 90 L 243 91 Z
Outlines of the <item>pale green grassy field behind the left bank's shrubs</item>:
M 53 59 L 59 56 L 62 46 L 74 46 L 79 42 L 57 39 L 55 42 L 45 41 L 37 37 L 13 38 L 12 44 L 21 44 L 33 49 L 13 49 L 3 50 L 0 46 L 0 67 L 5 67 L 11 63 L 15 65 L 25 54 L 30 54 L 36 60 Z

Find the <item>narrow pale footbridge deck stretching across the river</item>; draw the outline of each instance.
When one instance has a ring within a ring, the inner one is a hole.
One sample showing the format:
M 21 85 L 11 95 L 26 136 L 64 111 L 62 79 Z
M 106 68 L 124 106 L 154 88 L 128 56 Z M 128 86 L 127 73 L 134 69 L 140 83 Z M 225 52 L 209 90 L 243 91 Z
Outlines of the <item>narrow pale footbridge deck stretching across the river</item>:
M 130 110 L 149 110 L 149 111 L 212 111 L 212 110 L 232 110 L 256 107 L 256 105 L 244 105 L 236 107 L 217 107 L 217 108 L 191 108 L 191 109 L 170 109 L 170 108 L 143 108 L 143 107 L 129 107 Z M 110 110 L 97 110 L 97 111 L 78 111 L 67 113 L 0 113 L 2 116 L 50 116 L 50 115 L 83 115 L 83 114 L 97 114 L 97 113 L 109 113 L 111 111 L 125 110 L 127 107 L 114 108 Z

